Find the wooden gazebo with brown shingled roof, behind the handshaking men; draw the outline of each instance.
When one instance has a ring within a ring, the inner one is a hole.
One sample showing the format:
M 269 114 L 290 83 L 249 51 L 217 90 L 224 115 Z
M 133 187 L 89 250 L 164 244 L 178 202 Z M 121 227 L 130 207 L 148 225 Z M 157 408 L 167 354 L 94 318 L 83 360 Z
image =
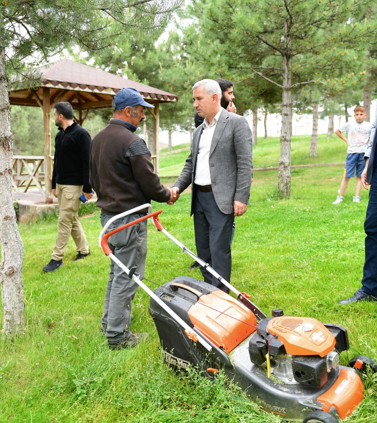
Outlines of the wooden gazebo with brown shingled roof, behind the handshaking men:
M 148 111 L 154 119 L 154 154 L 152 154 L 152 160 L 154 168 L 158 172 L 159 104 L 161 102 L 176 102 L 178 96 L 68 59 L 56 62 L 48 69 L 41 69 L 41 72 L 43 82 L 39 88 L 28 89 L 18 82 L 11 82 L 9 84 L 9 101 L 11 104 L 20 106 L 41 107 L 43 110 L 46 201 L 52 195 L 50 116 L 54 104 L 60 101 L 72 104 L 74 119 L 79 125 L 82 125 L 89 110 L 111 107 L 113 96 L 121 88 L 138 90 L 147 102 L 154 104 L 154 109 L 148 108 Z

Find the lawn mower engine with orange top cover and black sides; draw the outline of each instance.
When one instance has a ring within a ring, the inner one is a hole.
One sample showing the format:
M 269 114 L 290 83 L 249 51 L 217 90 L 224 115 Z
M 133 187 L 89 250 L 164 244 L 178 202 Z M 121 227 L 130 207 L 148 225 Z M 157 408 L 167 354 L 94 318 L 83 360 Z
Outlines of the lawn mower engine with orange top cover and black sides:
M 325 385 L 327 374 L 339 364 L 339 353 L 349 348 L 347 330 L 316 319 L 283 316 L 280 309 L 273 314 L 259 322 L 250 339 L 251 362 L 263 365 L 269 360 L 271 374 L 287 385 Z

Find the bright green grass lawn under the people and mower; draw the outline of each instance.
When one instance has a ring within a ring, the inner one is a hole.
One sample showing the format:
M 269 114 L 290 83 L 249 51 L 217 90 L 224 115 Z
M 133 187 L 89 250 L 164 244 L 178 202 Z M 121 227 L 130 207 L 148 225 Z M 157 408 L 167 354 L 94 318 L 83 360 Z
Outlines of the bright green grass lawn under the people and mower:
M 310 137 L 292 140 L 292 164 L 309 162 L 309 143 Z M 255 167 L 277 165 L 279 148 L 274 138 L 261 140 L 254 148 Z M 335 138 L 321 137 L 318 152 L 317 162 L 345 158 L 345 148 Z M 179 158 L 176 162 L 169 158 L 166 167 L 167 156 L 161 157 L 162 169 L 178 166 L 179 173 L 182 158 L 175 154 Z M 275 200 L 277 171 L 254 173 L 250 206 L 236 219 L 232 283 L 250 293 L 267 315 L 273 308 L 283 308 L 287 316 L 342 324 L 350 341 L 350 350 L 341 354 L 341 364 L 346 365 L 355 355 L 377 359 L 377 304 L 337 304 L 360 287 L 368 202 L 366 191 L 359 204 L 352 202 L 352 180 L 344 202 L 332 205 L 342 172 L 342 166 L 292 169 L 292 197 L 286 201 Z M 182 195 L 173 206 L 154 203 L 153 207 L 163 209 L 160 220 L 165 228 L 195 251 L 190 195 Z M 195 374 L 177 375 L 163 365 L 148 313 L 149 297 L 140 289 L 131 329 L 149 332 L 149 338 L 129 351 L 107 348 L 99 322 L 109 259 L 98 246 L 99 212 L 81 222 L 91 255 L 74 262 L 71 240 L 64 265 L 51 274 L 41 269 L 50 260 L 57 221 L 19 225 L 25 246 L 26 332 L 0 341 L 0 421 L 280 422 L 221 375 L 212 383 Z M 187 269 L 192 262 L 188 255 L 180 254 L 173 242 L 148 225 L 149 280 L 162 284 L 179 275 L 201 276 L 198 269 Z M 365 387 L 363 402 L 347 422 L 377 421 L 376 376 L 370 375 Z

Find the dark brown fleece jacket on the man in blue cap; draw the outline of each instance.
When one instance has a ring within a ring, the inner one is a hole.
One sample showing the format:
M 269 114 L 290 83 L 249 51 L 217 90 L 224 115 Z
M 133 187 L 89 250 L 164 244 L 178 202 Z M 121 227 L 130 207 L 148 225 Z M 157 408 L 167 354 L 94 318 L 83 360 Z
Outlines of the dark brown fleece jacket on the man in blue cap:
M 97 194 L 97 207 L 105 214 L 118 214 L 151 200 L 170 199 L 153 171 L 146 143 L 126 124 L 111 120 L 94 138 L 90 148 L 90 184 Z

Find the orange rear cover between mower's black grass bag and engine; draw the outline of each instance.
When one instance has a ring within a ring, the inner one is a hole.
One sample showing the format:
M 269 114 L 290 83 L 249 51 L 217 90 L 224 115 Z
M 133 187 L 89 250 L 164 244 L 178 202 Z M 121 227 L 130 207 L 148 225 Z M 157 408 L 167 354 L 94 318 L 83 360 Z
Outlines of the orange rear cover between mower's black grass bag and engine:
M 256 330 L 256 316 L 218 289 L 202 295 L 188 310 L 195 329 L 228 354 Z

